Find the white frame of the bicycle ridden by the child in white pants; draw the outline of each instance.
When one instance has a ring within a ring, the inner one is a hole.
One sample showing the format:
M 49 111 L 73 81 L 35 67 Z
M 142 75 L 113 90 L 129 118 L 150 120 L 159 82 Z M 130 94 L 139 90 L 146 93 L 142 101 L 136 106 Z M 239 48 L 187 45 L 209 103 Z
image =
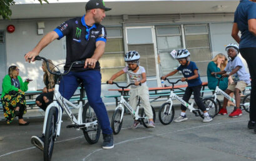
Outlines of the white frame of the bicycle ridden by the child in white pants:
M 121 109 L 121 110 L 122 110 L 122 112 L 121 112 L 121 119 L 120 119 L 120 120 L 123 119 L 123 113 L 124 113 L 124 111 L 125 111 L 124 106 L 130 111 L 131 115 L 133 116 L 133 118 L 134 118 L 135 120 L 138 120 L 138 119 L 140 119 L 140 118 L 148 119 L 148 117 L 140 117 L 140 116 L 138 115 L 139 109 L 140 109 L 140 105 L 139 105 L 139 104 L 137 105 L 136 110 L 134 110 L 133 107 L 131 107 L 131 105 L 128 104 L 128 102 L 126 102 L 126 100 L 124 99 L 123 95 L 121 95 L 120 102 L 118 103 L 118 106 L 116 107 L 116 109 Z M 116 109 L 115 109 L 115 110 L 116 110 Z

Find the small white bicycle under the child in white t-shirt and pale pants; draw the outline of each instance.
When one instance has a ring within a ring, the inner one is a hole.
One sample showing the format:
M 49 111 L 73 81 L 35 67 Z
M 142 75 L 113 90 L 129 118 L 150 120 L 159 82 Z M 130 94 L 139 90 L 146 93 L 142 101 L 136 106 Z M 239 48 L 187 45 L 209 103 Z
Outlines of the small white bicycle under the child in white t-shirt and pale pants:
M 106 82 L 108 84 L 108 81 Z M 136 107 L 136 110 L 133 110 L 133 107 L 131 107 L 128 102 L 126 102 L 124 95 L 125 95 L 125 88 L 128 88 L 130 85 L 135 85 L 134 83 L 128 84 L 126 87 L 125 86 L 120 86 L 116 82 L 113 82 L 116 86 L 120 87 L 121 90 L 121 99 L 118 105 L 116 106 L 115 112 L 112 116 L 111 120 L 111 128 L 113 129 L 113 134 L 118 134 L 121 130 L 122 124 L 123 124 L 123 113 L 125 112 L 125 107 L 126 109 L 129 110 L 131 113 L 131 116 L 133 117 L 134 120 L 138 120 L 140 124 L 143 124 L 146 128 L 148 128 L 147 124 L 149 122 L 148 117 L 146 116 L 144 109 L 141 110 L 141 113 L 139 115 L 139 110 L 140 110 L 140 97 L 138 96 L 138 104 Z M 141 83 L 140 83 L 141 85 Z M 156 113 L 155 109 L 151 106 L 152 112 L 153 112 L 153 120 L 155 122 L 156 119 Z

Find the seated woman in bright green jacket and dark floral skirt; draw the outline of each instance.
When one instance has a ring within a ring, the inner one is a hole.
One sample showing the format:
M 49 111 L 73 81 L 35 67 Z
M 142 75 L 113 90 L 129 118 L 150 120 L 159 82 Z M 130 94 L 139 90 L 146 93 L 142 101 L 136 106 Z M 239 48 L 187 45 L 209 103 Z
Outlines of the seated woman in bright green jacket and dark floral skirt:
M 24 82 L 19 76 L 17 66 L 11 66 L 8 69 L 8 75 L 4 77 L 2 84 L 2 103 L 6 123 L 10 124 L 13 119 L 19 117 L 19 125 L 29 125 L 24 121 L 23 115 L 26 114 L 25 93 L 28 90 L 29 79 Z

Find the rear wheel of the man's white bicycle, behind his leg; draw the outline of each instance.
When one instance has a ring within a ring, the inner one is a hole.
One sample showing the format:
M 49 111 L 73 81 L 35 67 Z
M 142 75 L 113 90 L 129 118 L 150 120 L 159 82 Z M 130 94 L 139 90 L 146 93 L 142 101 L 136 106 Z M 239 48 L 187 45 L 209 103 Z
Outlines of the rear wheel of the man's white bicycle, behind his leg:
M 83 117 L 83 123 L 93 122 L 93 121 L 97 120 L 95 111 L 89 105 L 88 102 L 83 107 L 82 117 Z M 101 128 L 100 128 L 99 122 L 97 125 L 93 125 L 90 127 L 84 127 L 83 134 L 84 134 L 85 140 L 89 144 L 95 144 L 96 142 L 98 142 L 98 140 L 100 138 L 100 131 L 101 131 Z

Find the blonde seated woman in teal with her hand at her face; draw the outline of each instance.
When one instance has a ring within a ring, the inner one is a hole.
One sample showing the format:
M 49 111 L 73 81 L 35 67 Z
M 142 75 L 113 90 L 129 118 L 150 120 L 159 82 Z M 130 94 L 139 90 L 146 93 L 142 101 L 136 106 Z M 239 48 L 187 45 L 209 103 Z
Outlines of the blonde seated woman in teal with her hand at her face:
M 215 78 L 215 76 L 212 76 L 212 72 L 220 72 L 225 69 L 227 66 L 227 57 L 225 57 L 224 54 L 220 53 L 215 56 L 212 61 L 209 62 L 208 67 L 207 67 L 207 79 L 208 79 L 208 88 L 215 90 L 218 79 Z M 220 76 L 218 76 L 220 77 Z M 220 80 L 220 85 L 219 88 L 222 90 L 226 90 L 228 87 L 228 78 L 225 77 L 223 80 Z

